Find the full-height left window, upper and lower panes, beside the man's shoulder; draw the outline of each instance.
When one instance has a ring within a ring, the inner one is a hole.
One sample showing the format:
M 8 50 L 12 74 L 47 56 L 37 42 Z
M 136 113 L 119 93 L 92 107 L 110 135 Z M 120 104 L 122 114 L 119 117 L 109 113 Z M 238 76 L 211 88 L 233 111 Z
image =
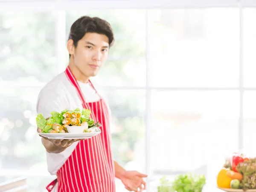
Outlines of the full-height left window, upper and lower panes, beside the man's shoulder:
M 53 12 L 0 13 L 1 176 L 48 175 L 35 106 L 44 83 L 57 74 L 55 42 Z

